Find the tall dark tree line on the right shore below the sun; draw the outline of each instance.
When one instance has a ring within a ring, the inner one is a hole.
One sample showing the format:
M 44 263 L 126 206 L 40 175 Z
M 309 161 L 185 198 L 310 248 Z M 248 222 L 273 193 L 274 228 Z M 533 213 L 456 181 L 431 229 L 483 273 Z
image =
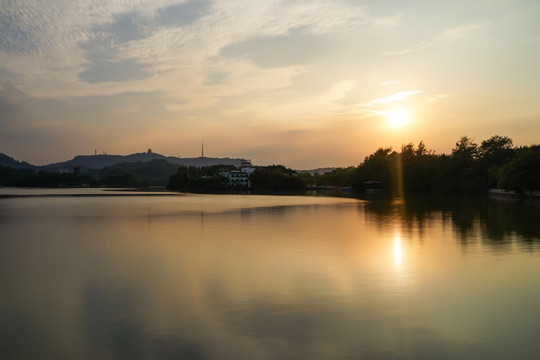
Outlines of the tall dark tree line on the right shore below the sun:
M 540 190 L 540 145 L 515 147 L 507 136 L 474 142 L 461 137 L 452 153 L 436 154 L 423 141 L 401 151 L 379 148 L 357 167 L 316 176 L 315 186 L 381 188 L 399 194 L 482 193 L 500 188 L 531 194 Z

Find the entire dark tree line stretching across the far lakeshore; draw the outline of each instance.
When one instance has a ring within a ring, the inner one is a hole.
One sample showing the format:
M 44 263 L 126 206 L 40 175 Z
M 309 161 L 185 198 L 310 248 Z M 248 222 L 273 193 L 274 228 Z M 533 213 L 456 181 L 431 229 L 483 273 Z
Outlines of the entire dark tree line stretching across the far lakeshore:
M 148 187 L 167 186 L 192 192 L 230 192 L 240 189 L 223 176 L 234 166 L 186 167 L 165 160 L 124 163 L 104 169 L 74 168 L 70 173 L 0 166 L 0 185 L 33 187 Z M 423 141 L 379 148 L 358 166 L 310 175 L 283 165 L 258 166 L 250 176 L 254 192 L 298 192 L 305 189 L 348 187 L 358 191 L 382 189 L 394 194 L 483 193 L 488 189 L 531 194 L 540 190 L 540 145 L 515 147 L 507 136 L 495 135 L 476 143 L 461 137 L 451 154 L 436 154 Z

